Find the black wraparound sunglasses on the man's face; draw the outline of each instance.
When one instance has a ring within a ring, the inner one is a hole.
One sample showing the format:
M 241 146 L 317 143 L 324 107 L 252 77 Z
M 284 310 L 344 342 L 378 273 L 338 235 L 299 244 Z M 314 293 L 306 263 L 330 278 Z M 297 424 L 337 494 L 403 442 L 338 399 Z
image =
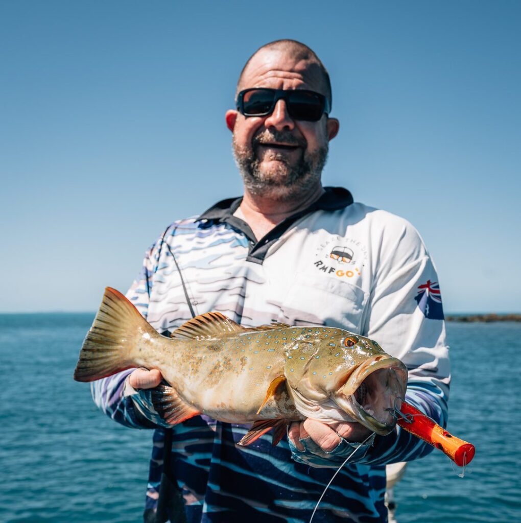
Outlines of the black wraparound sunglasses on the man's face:
M 320 93 L 300 89 L 267 89 L 252 87 L 237 96 L 237 111 L 244 116 L 268 116 L 279 100 L 284 100 L 289 116 L 294 120 L 316 122 L 324 112 L 331 111 L 329 100 Z

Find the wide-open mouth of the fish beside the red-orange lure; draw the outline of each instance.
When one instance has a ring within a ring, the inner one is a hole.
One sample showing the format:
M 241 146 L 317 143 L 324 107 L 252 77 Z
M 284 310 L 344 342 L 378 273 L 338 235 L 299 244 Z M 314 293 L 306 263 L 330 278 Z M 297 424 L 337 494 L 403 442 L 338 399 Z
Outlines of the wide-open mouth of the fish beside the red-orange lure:
M 405 365 L 391 356 L 377 356 L 349 376 L 335 401 L 359 423 L 385 436 L 397 421 L 389 409 L 400 408 L 406 386 Z

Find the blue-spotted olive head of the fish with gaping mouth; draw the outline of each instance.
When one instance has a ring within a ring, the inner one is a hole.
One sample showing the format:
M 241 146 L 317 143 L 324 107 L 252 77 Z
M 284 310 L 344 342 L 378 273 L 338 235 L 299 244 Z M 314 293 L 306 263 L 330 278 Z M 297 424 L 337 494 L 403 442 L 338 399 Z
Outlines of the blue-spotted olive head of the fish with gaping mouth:
M 389 434 L 396 425 L 390 409 L 400 407 L 407 385 L 402 361 L 377 342 L 343 329 L 302 330 L 286 351 L 285 367 L 298 410 L 326 423 L 356 421 Z

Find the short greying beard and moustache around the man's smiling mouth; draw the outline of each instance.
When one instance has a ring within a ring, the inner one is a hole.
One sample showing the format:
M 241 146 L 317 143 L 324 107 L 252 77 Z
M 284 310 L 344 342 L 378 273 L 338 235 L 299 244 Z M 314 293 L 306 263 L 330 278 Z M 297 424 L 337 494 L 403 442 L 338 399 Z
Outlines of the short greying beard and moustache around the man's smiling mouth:
M 283 152 L 270 153 L 263 160 L 276 160 L 273 168 L 262 166 L 255 151 L 263 143 L 279 142 L 301 147 L 298 160 L 291 164 Z M 233 141 L 235 163 L 239 168 L 245 188 L 253 195 L 263 195 L 276 200 L 291 200 L 302 194 L 307 194 L 320 184 L 322 169 L 327 160 L 328 147 L 320 147 L 312 153 L 307 153 L 307 141 L 296 138 L 285 131 L 268 131 L 256 135 L 252 140 L 252 148 L 242 147 Z

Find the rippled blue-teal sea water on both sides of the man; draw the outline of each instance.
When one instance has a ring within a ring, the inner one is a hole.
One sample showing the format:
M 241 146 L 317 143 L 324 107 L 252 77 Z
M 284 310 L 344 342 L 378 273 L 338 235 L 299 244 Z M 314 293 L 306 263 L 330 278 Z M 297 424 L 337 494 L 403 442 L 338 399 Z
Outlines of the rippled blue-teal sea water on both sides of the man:
M 151 432 L 101 414 L 72 372 L 92 314 L 0 315 L 0 521 L 142 521 Z M 399 523 L 521 521 L 521 324 L 448 326 L 449 430 L 476 456 L 461 479 L 439 451 L 395 487 Z

